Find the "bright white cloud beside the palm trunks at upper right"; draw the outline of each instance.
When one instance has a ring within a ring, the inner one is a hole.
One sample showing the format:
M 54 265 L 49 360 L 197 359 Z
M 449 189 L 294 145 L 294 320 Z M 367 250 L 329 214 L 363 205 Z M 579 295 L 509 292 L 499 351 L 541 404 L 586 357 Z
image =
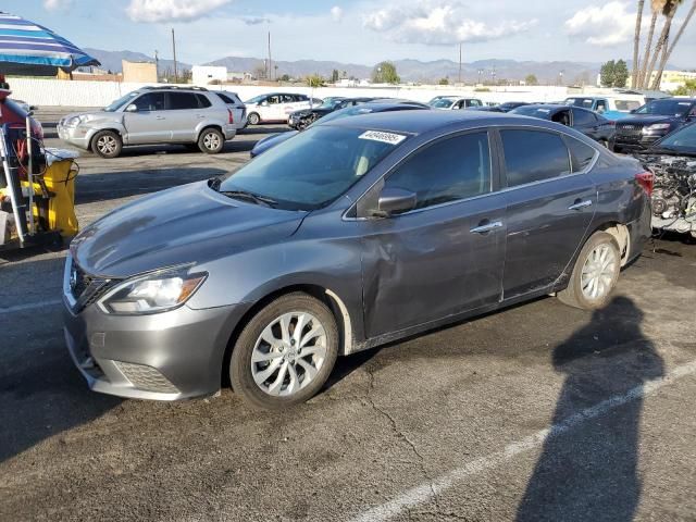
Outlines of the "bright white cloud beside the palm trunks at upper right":
M 566 33 L 593 46 L 617 46 L 633 38 L 635 16 L 626 2 L 591 5 L 566 21 Z

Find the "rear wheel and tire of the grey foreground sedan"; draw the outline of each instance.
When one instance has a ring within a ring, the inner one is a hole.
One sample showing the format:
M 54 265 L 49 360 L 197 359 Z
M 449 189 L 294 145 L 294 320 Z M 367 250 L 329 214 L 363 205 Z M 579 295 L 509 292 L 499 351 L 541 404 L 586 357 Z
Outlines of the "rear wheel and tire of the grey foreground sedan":
M 568 287 L 558 299 L 583 310 L 604 308 L 621 272 L 621 252 L 617 240 L 606 232 L 596 232 L 580 251 Z

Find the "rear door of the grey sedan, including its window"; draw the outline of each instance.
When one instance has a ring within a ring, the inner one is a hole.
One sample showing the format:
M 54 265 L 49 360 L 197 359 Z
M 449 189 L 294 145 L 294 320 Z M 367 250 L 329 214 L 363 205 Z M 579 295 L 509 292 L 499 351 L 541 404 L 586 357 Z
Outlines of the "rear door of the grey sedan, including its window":
M 500 130 L 507 188 L 505 298 L 549 287 L 581 246 L 597 207 L 597 151 L 543 129 Z

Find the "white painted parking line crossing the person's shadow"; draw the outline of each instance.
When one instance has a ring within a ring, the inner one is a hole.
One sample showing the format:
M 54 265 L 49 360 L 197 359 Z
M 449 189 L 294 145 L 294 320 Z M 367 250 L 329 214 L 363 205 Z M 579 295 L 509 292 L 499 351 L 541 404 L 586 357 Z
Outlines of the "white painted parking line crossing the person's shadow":
M 512 443 L 506 446 L 501 451 L 496 451 L 495 453 L 467 462 L 461 468 L 457 468 L 435 478 L 431 484 L 422 484 L 413 487 L 412 489 L 409 489 L 402 495 L 396 497 L 394 500 L 357 515 L 352 519 L 352 522 L 377 522 L 396 517 L 409 508 L 430 501 L 433 497 L 453 487 L 458 482 L 461 482 L 471 475 L 497 468 L 520 453 L 539 448 L 548 438 L 561 435 L 585 421 L 596 419 L 627 402 L 648 396 L 658 389 L 672 384 L 681 377 L 693 374 L 696 374 L 696 361 L 676 366 L 663 377 L 636 386 L 623 395 L 610 397 L 607 400 L 575 413 L 563 422 L 554 424 L 546 430 L 540 430 L 529 437 Z

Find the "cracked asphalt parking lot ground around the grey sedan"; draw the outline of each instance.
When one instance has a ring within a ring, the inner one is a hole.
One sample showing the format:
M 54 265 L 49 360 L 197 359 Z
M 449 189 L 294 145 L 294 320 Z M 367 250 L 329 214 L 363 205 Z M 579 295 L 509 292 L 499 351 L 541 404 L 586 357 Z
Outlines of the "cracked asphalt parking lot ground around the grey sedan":
M 85 153 L 80 223 L 237 169 L 282 129 L 213 157 Z M 549 297 L 340 359 L 281 412 L 229 389 L 88 391 L 62 339 L 63 260 L 0 256 L 0 520 L 696 520 L 696 245 L 682 238 L 649 245 L 605 310 Z

